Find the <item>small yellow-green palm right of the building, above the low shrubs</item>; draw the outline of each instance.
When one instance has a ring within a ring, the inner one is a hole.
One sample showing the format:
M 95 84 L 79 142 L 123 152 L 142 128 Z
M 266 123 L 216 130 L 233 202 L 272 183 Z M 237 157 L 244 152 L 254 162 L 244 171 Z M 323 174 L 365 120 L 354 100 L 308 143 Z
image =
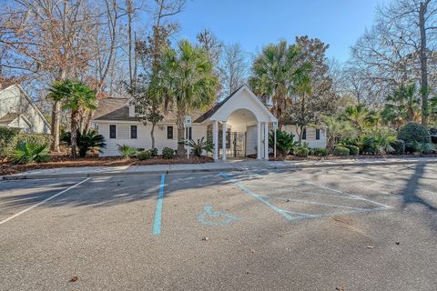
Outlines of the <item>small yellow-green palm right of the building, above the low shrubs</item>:
M 362 104 L 347 106 L 341 117 L 349 121 L 360 133 L 377 122 L 376 113 Z

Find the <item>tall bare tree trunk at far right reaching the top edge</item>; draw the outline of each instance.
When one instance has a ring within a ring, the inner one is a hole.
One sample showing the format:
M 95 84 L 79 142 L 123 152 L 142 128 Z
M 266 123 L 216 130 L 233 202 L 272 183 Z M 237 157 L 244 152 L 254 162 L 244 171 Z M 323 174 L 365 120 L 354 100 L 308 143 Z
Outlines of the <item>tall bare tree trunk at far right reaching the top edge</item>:
M 421 30 L 421 94 L 422 94 L 422 125 L 428 125 L 428 65 L 426 55 L 426 30 L 425 30 L 425 14 L 430 1 L 421 2 L 419 12 L 419 28 Z

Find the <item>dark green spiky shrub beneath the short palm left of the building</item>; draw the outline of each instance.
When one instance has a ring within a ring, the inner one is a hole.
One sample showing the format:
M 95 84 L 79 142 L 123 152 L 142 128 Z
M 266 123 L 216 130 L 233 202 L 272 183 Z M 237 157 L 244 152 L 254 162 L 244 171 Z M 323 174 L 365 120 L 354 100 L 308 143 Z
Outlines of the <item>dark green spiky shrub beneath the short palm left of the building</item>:
M 66 146 L 71 146 L 71 133 L 63 132 L 60 140 Z M 77 131 L 77 148 L 79 149 L 79 156 L 85 157 L 89 151 L 97 150 L 102 153 L 102 148 L 106 148 L 107 144 L 103 135 L 98 135 L 95 130 L 89 130 L 84 134 Z

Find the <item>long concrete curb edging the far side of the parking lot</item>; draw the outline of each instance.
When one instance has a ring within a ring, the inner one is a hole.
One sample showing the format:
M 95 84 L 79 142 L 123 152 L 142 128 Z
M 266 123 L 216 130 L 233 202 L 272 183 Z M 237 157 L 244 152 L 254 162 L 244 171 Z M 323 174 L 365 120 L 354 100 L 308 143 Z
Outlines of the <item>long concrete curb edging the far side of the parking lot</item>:
M 315 164 L 315 165 L 287 165 L 287 166 L 270 166 L 262 169 L 265 170 L 294 170 L 294 169 L 305 169 L 305 168 L 322 168 L 322 167 L 350 167 L 350 166 L 395 166 L 395 165 L 426 165 L 426 164 L 437 164 L 437 159 L 431 161 L 376 161 L 376 162 L 358 162 L 358 163 L 333 163 L 333 164 Z M 97 176 L 141 176 L 141 175 L 163 175 L 163 174 L 196 174 L 196 173 L 219 173 L 222 171 L 234 171 L 234 172 L 244 172 L 250 170 L 259 170 L 259 168 L 249 168 L 249 167 L 222 167 L 216 169 L 190 169 L 190 170 L 166 170 L 166 171 L 138 171 L 138 172 L 100 172 L 100 173 L 72 173 L 72 174 L 51 174 L 51 175 L 15 175 L 15 176 L 2 176 L 3 180 L 26 180 L 26 179 L 43 179 L 43 178 L 69 178 L 69 177 L 97 177 Z

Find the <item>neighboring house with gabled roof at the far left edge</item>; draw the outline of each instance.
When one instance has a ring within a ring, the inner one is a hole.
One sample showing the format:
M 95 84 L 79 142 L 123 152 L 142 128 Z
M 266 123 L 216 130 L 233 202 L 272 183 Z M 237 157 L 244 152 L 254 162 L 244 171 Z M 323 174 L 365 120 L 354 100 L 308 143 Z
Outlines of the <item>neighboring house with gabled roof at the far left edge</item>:
M 0 90 L 0 126 L 19 128 L 27 133 L 50 134 L 46 117 L 21 85 Z

